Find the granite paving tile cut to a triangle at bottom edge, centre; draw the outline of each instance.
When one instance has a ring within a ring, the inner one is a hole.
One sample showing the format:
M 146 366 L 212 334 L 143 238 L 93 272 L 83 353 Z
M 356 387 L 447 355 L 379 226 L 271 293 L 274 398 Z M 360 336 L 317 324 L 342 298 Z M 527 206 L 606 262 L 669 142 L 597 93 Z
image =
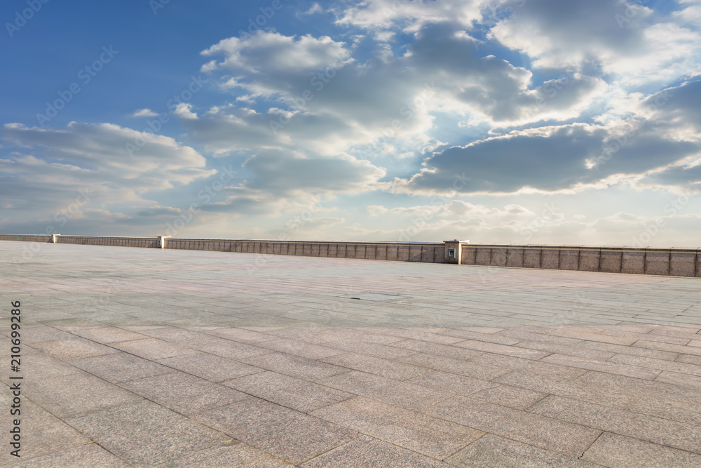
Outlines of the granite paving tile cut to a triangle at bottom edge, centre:
M 369 436 L 353 439 L 300 466 L 303 468 L 449 468 L 449 465 L 438 460 Z

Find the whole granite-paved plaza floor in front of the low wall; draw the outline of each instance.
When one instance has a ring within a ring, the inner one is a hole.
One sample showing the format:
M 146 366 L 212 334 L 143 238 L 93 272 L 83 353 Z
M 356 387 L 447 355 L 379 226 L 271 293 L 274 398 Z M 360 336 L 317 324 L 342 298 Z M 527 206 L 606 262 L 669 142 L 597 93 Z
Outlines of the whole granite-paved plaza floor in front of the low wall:
M 0 263 L 1 466 L 701 466 L 699 279 L 8 241 Z

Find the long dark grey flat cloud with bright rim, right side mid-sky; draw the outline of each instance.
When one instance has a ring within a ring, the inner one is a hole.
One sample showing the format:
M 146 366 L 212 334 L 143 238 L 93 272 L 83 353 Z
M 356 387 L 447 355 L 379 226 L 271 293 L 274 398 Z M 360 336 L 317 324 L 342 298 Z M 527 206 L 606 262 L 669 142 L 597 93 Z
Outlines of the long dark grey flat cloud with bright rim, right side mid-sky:
M 553 191 L 603 180 L 614 174 L 639 174 L 695 154 L 696 142 L 666 140 L 653 126 L 626 137 L 618 151 L 606 153 L 615 134 L 601 126 L 569 125 L 547 134 L 531 132 L 451 147 L 426 160 L 428 171 L 408 181 L 405 190 L 450 192 L 456 174 L 471 178 L 458 191 L 515 192 L 524 187 Z M 620 136 L 618 136 L 620 138 Z M 604 154 L 604 159 L 602 158 Z M 594 168 L 589 161 L 599 161 Z

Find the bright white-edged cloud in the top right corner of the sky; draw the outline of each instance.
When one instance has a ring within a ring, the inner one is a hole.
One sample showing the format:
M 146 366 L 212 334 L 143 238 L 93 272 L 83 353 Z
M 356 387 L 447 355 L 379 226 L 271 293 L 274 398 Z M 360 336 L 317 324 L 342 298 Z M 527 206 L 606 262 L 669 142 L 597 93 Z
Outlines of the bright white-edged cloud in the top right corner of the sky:
M 600 70 L 629 84 L 684 76 L 701 48 L 697 31 L 627 0 L 529 0 L 490 37 L 535 67 Z

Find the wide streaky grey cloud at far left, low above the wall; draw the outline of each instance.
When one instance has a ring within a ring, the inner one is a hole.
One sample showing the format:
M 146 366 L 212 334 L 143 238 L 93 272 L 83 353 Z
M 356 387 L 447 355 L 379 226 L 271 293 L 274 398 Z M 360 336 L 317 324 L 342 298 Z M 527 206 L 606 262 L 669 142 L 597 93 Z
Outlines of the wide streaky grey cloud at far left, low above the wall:
M 137 136 L 147 143 L 130 156 L 125 145 Z M 172 138 L 109 123 L 57 129 L 11 123 L 0 128 L 0 139 L 15 148 L 4 159 L 0 203 L 11 206 L 13 220 L 32 220 L 25 226 L 32 232 L 67 222 L 72 229 L 90 222 L 128 224 L 139 216 L 130 206 L 154 203 L 148 194 L 216 173 L 205 168 L 202 155 Z

